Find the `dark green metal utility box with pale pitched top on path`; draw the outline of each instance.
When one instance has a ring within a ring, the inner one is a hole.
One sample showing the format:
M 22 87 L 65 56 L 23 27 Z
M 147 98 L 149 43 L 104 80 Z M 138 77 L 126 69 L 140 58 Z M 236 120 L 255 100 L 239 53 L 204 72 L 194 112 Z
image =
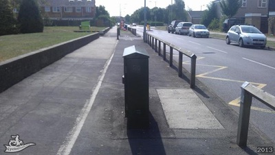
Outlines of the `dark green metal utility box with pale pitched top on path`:
M 124 49 L 125 117 L 128 128 L 148 128 L 149 82 L 148 53 L 135 46 Z

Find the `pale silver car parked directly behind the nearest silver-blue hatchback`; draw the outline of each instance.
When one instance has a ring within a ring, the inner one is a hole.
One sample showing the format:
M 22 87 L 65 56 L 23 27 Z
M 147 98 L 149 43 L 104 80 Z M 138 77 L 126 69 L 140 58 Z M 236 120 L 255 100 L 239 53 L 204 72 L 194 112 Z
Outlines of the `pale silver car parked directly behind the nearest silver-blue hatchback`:
M 206 28 L 205 25 L 195 24 L 189 28 L 188 35 L 193 36 L 194 38 L 196 38 L 198 36 L 209 38 L 209 34 L 210 34 L 210 32 L 208 31 L 208 29 Z

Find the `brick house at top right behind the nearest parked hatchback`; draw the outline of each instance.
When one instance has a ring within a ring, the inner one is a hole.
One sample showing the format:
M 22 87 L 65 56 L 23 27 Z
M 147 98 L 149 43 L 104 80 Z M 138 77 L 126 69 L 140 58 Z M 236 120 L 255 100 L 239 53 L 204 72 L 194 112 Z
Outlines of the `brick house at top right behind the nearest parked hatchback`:
M 216 0 L 213 3 L 217 4 L 217 15 L 222 16 L 220 1 Z M 275 12 L 275 0 L 240 0 L 241 8 L 232 18 L 243 19 L 244 23 L 254 25 L 261 32 L 268 32 L 268 17 L 270 12 Z M 272 13 L 273 14 L 273 13 Z

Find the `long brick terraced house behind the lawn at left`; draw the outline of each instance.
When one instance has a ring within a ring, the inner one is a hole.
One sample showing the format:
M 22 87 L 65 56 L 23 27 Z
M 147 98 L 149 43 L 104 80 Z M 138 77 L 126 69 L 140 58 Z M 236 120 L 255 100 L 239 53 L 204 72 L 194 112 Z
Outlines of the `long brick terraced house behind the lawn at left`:
M 96 0 L 44 0 L 39 5 L 51 20 L 84 21 L 96 15 Z

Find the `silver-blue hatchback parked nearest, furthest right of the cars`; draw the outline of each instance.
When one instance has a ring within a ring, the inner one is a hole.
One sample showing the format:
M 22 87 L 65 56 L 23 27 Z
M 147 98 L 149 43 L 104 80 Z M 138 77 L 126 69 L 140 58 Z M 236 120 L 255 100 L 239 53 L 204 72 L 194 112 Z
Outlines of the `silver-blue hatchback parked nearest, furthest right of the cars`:
M 265 48 L 267 38 L 259 29 L 252 25 L 234 25 L 228 30 L 226 44 L 238 43 L 240 47 L 254 46 Z

